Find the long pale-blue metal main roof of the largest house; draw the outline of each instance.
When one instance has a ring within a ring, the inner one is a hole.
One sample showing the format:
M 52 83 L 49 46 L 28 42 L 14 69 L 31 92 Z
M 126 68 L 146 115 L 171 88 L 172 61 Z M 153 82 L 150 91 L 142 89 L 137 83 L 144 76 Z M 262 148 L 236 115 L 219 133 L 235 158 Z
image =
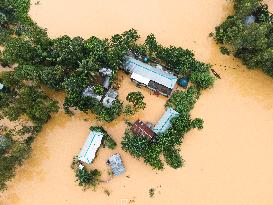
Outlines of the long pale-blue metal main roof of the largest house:
M 155 81 L 167 88 L 173 89 L 177 81 L 177 77 L 175 77 L 173 74 L 160 68 L 155 68 L 132 57 L 127 57 L 125 66 L 125 70 L 129 70 L 133 74 L 135 73 L 143 78 Z

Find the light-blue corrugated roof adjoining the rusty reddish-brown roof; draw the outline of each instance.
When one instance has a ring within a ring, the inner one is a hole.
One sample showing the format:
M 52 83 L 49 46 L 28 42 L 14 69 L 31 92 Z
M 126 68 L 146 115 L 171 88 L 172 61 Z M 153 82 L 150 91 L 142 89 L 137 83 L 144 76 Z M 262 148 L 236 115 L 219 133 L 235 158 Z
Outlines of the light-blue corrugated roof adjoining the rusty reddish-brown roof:
M 161 119 L 158 121 L 158 123 L 153 128 L 153 131 L 156 134 L 164 133 L 167 129 L 171 127 L 171 120 L 174 117 L 177 117 L 179 115 L 178 112 L 176 112 L 174 109 L 168 107 Z

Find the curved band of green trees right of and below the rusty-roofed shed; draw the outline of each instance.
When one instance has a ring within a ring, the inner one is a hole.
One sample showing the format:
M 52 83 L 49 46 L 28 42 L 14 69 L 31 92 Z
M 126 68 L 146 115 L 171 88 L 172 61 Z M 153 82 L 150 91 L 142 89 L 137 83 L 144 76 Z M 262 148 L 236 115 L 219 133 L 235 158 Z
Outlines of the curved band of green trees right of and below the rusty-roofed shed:
M 172 120 L 172 127 L 165 133 L 157 135 L 154 141 L 137 136 L 127 129 L 121 142 L 122 149 L 136 158 L 143 158 L 145 163 L 155 169 L 164 167 L 161 155 L 172 168 L 177 169 L 183 166 L 178 147 L 184 135 L 192 128 L 203 127 L 203 120 L 199 118 L 191 120 L 189 114 L 199 95 L 200 91 L 195 87 L 190 87 L 187 91 L 175 91 L 166 103 L 167 107 L 172 107 L 179 112 L 179 116 Z

